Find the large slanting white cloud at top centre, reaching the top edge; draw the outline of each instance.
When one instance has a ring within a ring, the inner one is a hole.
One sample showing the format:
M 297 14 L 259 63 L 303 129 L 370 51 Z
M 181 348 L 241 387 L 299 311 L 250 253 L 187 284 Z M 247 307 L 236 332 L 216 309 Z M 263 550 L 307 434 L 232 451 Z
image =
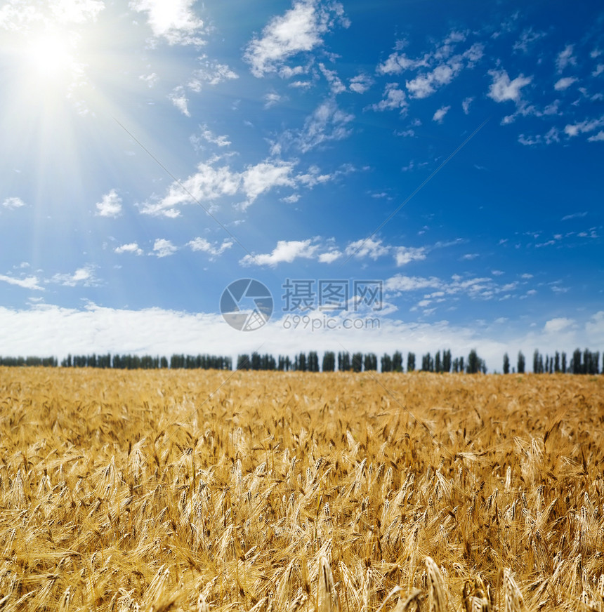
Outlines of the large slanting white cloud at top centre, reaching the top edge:
M 244 53 L 254 76 L 277 72 L 291 56 L 312 51 L 322 44 L 322 36 L 340 23 L 348 26 L 339 2 L 321 5 L 317 0 L 301 0 L 284 15 L 274 17 L 254 38 Z

